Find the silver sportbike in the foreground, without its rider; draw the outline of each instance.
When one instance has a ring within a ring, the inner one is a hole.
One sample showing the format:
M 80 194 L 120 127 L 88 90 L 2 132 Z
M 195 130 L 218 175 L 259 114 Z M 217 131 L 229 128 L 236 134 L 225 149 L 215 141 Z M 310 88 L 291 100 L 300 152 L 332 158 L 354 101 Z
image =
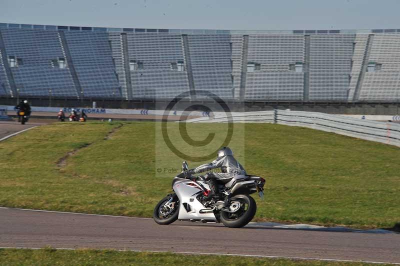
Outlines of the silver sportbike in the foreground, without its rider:
M 263 199 L 264 184 L 265 179 L 259 176 L 236 175 L 229 182 L 218 184 L 219 193 L 210 197 L 204 176 L 195 176 L 183 161 L 182 172 L 172 180 L 174 193 L 157 203 L 153 218 L 158 224 L 169 224 L 178 219 L 243 227 L 251 221 L 257 209 L 250 194 L 258 192 Z

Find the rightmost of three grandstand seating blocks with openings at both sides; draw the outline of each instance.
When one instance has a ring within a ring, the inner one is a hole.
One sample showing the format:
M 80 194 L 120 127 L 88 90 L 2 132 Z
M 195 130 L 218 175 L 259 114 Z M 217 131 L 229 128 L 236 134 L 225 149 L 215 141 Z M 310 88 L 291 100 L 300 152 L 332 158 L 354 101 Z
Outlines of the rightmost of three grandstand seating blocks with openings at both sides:
M 245 98 L 303 99 L 304 74 L 289 65 L 304 62 L 304 36 L 249 35 L 247 61 L 259 63 L 260 69 L 247 72 Z

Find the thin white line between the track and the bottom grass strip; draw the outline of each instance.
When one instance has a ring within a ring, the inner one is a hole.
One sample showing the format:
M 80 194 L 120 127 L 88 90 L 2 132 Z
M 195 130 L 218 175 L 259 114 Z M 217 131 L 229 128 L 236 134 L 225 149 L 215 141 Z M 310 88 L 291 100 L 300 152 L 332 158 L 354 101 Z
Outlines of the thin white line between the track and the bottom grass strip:
M 15 249 L 42 249 L 42 247 L 1 247 L 0 248 L 15 248 Z M 53 247 L 51 247 L 53 248 Z M 54 248 L 60 250 L 76 250 L 84 248 L 68 248 L 60 247 Z M 96 248 L 90 248 L 96 249 Z M 101 248 L 107 249 L 107 248 Z M 112 248 L 111 248 L 112 249 Z M 288 259 L 310 259 L 310 260 L 323 260 L 323 261 L 346 261 L 346 262 L 365 262 L 376 264 L 395 264 L 400 265 L 398 262 L 383 262 L 383 261 L 368 261 L 368 260 L 351 260 L 351 259 L 336 259 L 336 258 L 316 258 L 316 257 L 291 257 L 291 256 L 270 256 L 270 255 L 249 255 L 249 254 L 232 254 L 232 253 L 210 253 L 210 252 L 183 252 L 183 251 L 159 251 L 159 250 L 137 250 L 137 249 L 113 249 L 115 251 L 131 251 L 131 252 L 155 252 L 155 253 L 175 253 L 175 254 L 196 254 L 196 255 L 225 255 L 225 256 L 245 256 L 245 257 L 265 257 L 265 258 L 288 258 Z

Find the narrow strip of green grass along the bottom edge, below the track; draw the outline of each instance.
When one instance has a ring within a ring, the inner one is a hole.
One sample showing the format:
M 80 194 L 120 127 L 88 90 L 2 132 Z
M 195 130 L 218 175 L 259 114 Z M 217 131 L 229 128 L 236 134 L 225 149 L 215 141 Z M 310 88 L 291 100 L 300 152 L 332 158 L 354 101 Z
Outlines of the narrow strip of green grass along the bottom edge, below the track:
M 362 262 L 290 260 L 223 255 L 76 249 L 0 249 L 0 265 L 368 265 Z

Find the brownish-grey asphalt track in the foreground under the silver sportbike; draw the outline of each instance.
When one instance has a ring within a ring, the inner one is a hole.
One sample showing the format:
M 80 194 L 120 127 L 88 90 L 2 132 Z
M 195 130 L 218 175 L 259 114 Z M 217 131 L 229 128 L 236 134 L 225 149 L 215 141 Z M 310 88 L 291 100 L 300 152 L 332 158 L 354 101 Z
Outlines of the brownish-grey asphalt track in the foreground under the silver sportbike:
M 0 247 L 114 248 L 400 263 L 400 234 L 215 223 L 158 225 L 149 218 L 0 208 Z

